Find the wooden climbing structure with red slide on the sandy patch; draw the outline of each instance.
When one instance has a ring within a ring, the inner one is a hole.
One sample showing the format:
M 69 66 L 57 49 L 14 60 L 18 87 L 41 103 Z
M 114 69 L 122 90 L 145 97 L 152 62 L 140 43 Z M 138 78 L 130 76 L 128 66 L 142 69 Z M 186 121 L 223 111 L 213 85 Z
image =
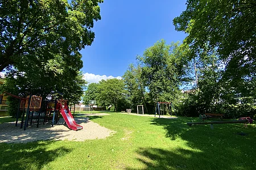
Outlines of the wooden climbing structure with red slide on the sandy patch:
M 54 124 L 57 124 L 57 121 L 59 121 L 60 114 L 63 115 L 63 118 L 67 123 L 69 129 L 82 129 L 82 126 L 76 124 L 71 112 L 68 109 L 68 100 L 44 100 L 42 102 L 41 96 L 35 96 L 30 94 L 26 98 L 24 98 L 10 94 L 8 92 L 4 92 L 3 94 L 19 99 L 19 107 L 16 113 L 15 126 L 18 126 L 18 118 L 20 112 L 22 112 L 20 129 L 23 128 L 24 124 L 24 130 L 26 130 L 28 122 L 30 122 L 30 125 L 32 125 L 32 122 L 36 122 L 36 128 L 38 128 L 40 120 L 43 120 L 43 124 L 45 124 L 49 120 L 52 120 L 53 126 Z M 60 103 L 63 105 L 61 105 Z

